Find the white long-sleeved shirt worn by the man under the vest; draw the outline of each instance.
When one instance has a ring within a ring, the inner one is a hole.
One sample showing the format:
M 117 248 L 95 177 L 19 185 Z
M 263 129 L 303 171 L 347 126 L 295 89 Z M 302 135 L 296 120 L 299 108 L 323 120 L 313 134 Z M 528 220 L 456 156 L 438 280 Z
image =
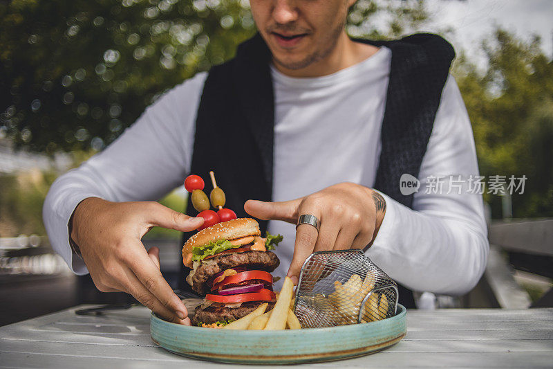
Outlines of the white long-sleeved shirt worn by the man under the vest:
M 344 181 L 373 186 L 390 62 L 391 51 L 381 47 L 363 62 L 323 77 L 290 78 L 272 69 L 274 201 Z M 198 73 L 165 93 L 106 150 L 53 183 L 44 223 L 55 251 L 75 273 L 87 273 L 68 244 L 68 219 L 80 201 L 155 200 L 191 174 L 196 112 L 206 77 Z M 389 276 L 416 291 L 462 294 L 485 269 L 489 246 L 482 197 L 467 192 L 467 183 L 460 193 L 448 191 L 449 175 L 478 175 L 471 125 L 451 76 L 422 160 L 413 209 L 383 194 L 386 215 L 366 252 Z M 425 190 L 432 176 L 446 176 L 442 192 Z M 269 231 L 284 235 L 275 273 L 283 276 L 292 259 L 294 225 L 271 221 Z

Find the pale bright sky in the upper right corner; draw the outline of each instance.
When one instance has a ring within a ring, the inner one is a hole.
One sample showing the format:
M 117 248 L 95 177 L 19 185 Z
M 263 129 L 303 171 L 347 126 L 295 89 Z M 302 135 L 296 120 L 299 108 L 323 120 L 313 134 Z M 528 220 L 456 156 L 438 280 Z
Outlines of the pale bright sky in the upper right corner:
M 546 55 L 553 57 L 553 0 L 427 0 L 432 21 L 429 30 L 451 27 L 453 46 L 470 51 L 494 24 L 523 39 L 540 35 Z

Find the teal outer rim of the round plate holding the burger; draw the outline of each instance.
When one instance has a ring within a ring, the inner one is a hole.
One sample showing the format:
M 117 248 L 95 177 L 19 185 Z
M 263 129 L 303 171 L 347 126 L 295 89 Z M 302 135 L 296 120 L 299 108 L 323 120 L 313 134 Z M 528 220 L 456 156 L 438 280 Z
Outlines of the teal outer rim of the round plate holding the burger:
M 392 318 L 301 330 L 214 330 L 180 325 L 151 313 L 151 339 L 165 350 L 223 363 L 291 364 L 332 361 L 384 350 L 406 334 L 406 309 Z

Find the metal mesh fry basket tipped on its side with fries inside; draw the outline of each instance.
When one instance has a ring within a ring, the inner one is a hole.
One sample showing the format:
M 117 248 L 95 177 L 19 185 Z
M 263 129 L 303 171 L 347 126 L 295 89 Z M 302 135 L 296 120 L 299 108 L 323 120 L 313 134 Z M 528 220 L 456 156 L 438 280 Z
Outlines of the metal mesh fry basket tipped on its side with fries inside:
M 301 327 L 334 327 L 395 316 L 397 285 L 362 250 L 319 251 L 301 267 L 294 313 Z

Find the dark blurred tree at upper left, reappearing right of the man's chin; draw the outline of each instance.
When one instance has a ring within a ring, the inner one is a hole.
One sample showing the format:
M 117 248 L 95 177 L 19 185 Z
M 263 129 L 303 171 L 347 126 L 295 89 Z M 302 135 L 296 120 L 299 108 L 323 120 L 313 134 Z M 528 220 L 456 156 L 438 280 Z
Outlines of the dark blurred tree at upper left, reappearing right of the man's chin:
M 2 1 L 0 137 L 48 154 L 100 150 L 160 93 L 232 57 L 255 32 L 249 8 L 248 0 Z M 426 18 L 422 0 L 359 0 L 348 31 L 395 37 Z

